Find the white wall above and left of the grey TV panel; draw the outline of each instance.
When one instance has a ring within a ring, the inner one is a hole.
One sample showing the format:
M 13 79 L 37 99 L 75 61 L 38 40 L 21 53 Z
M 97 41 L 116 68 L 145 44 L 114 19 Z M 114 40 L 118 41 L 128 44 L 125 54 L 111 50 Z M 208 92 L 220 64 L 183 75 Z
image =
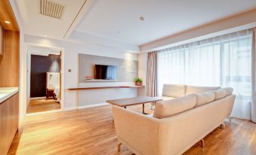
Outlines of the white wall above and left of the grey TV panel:
M 76 42 L 60 41 L 51 38 L 41 38 L 32 35 L 25 35 L 25 42 L 32 45 L 40 45 L 43 47 L 63 48 L 64 54 L 64 89 L 65 99 L 64 107 L 77 108 L 79 106 L 79 93 L 78 91 L 67 90 L 68 88 L 79 87 L 79 53 L 109 56 L 122 59 L 137 60 L 136 53 L 125 53 L 124 51 L 117 50 L 111 47 L 104 47 L 94 44 L 79 44 Z M 71 69 L 71 72 L 68 72 Z M 100 94 L 94 94 L 91 98 L 97 98 Z

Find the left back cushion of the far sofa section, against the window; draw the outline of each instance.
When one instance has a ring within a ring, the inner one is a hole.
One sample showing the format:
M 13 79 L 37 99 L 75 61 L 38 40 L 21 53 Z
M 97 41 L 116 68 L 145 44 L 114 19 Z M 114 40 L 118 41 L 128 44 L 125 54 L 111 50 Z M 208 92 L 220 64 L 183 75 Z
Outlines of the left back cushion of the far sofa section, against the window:
M 182 97 L 185 96 L 186 85 L 181 84 L 164 84 L 162 87 L 162 96 Z

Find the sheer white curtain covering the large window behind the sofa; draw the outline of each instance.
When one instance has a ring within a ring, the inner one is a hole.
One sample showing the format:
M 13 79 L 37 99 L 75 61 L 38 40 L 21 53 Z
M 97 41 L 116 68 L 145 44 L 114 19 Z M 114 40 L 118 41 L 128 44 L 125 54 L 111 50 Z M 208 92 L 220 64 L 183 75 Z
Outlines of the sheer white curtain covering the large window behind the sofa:
M 251 101 L 251 37 L 244 30 L 160 50 L 158 88 L 163 84 L 233 87 L 236 100 Z

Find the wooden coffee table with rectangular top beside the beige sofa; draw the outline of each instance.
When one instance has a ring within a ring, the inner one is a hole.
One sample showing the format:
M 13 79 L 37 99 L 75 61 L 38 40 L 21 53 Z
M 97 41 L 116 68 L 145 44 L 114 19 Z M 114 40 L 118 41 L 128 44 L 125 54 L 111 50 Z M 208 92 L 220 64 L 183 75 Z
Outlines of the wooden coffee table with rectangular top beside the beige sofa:
M 162 101 L 159 97 L 148 97 L 148 96 L 139 96 L 134 98 L 127 98 L 127 99 L 113 99 L 113 100 L 107 100 L 106 102 L 111 105 L 116 105 L 119 107 L 126 108 L 128 106 L 132 105 L 142 105 L 142 112 L 145 113 L 145 103 L 151 103 L 151 102 L 159 102 Z

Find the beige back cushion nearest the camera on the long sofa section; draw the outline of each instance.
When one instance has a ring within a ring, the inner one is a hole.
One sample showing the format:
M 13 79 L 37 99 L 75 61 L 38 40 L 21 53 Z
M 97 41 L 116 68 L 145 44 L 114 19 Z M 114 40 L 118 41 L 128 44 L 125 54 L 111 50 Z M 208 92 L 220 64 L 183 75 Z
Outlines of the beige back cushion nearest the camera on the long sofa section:
M 189 96 L 180 97 L 161 102 L 156 102 L 153 117 L 165 118 L 171 117 L 175 114 L 190 110 L 196 105 L 196 95 L 190 94 Z

